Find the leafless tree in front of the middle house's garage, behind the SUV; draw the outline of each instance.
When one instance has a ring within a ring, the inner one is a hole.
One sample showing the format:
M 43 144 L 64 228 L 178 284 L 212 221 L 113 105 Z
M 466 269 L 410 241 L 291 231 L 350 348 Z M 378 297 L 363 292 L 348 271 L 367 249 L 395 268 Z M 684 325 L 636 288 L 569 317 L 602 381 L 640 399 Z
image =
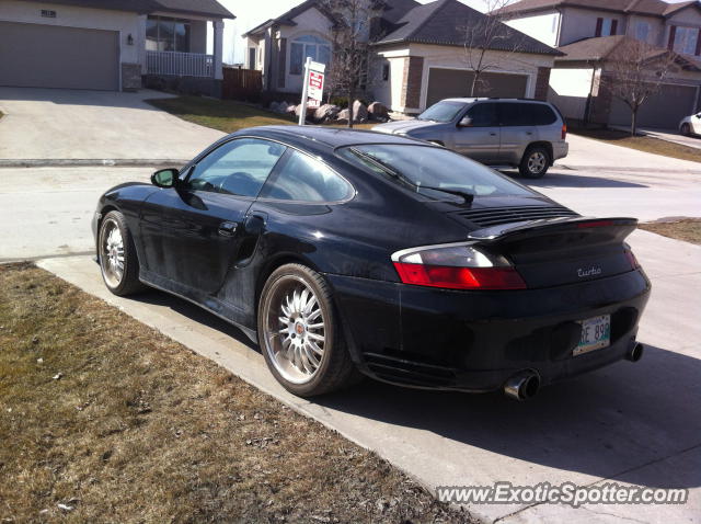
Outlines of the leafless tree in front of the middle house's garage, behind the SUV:
M 476 96 L 479 88 L 487 86 L 483 78 L 485 72 L 502 68 L 504 56 L 495 57 L 490 50 L 517 53 L 522 46 L 525 36 L 504 24 L 508 20 L 504 8 L 510 1 L 484 0 L 486 14 L 475 11 L 473 16 L 462 22 L 466 61 L 473 72 L 470 96 Z

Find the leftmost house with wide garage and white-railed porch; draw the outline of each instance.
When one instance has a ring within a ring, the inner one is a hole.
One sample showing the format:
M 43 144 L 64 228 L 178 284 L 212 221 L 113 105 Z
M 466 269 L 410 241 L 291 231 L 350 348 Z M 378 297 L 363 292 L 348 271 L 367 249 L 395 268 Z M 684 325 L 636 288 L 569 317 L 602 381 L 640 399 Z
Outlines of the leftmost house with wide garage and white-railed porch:
M 0 86 L 218 95 L 232 18 L 217 0 L 0 0 Z

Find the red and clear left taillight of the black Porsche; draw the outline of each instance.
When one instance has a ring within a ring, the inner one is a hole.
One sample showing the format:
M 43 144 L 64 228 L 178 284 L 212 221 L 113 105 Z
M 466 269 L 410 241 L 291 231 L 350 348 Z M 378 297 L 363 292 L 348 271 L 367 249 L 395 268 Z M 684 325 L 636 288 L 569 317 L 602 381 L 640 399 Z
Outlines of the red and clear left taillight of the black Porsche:
M 525 289 L 526 283 L 504 258 L 464 243 L 405 249 L 392 255 L 404 284 L 447 289 Z

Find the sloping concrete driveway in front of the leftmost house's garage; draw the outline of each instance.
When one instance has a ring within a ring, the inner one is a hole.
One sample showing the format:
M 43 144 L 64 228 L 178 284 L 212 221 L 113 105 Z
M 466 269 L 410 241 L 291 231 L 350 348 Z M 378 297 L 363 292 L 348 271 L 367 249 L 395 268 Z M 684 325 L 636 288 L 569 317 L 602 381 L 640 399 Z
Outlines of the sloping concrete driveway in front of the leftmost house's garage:
M 168 96 L 0 88 L 0 159 L 181 161 L 223 136 L 146 102 Z

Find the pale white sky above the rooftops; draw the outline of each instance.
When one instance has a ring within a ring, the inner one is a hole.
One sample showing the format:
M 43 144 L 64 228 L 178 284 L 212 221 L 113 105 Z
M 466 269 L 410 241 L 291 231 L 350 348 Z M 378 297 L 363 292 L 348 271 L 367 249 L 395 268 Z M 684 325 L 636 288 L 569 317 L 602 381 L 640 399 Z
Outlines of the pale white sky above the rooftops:
M 225 64 L 241 64 L 244 57 L 243 38 L 241 35 L 268 19 L 274 19 L 302 0 L 219 0 L 237 19 L 225 21 L 223 61 Z M 417 0 L 428 3 L 434 0 Z M 460 0 L 473 9 L 484 11 L 484 0 Z M 668 0 L 671 3 L 683 0 Z

